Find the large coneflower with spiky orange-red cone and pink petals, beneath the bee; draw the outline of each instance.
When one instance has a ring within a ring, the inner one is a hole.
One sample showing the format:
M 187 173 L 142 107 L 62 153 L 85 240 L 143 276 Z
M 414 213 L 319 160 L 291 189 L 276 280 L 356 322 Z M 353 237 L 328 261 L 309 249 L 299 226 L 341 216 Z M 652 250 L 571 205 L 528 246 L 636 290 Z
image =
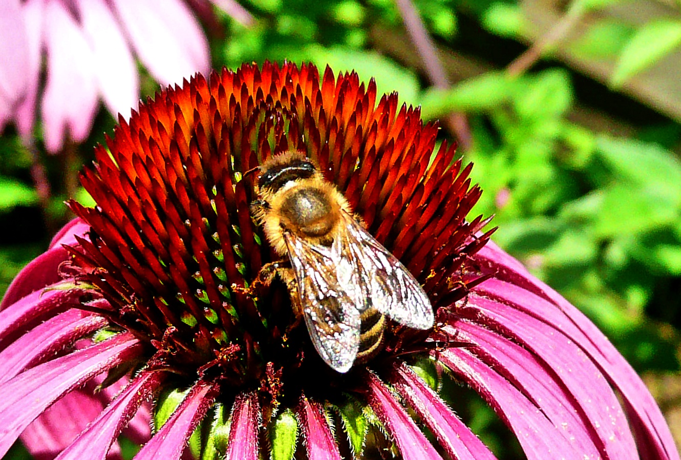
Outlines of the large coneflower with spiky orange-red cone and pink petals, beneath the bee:
M 197 75 L 141 104 L 82 174 L 97 206 L 70 202 L 78 219 L 3 299 L 0 455 L 23 433 L 45 457 L 104 459 L 127 433 L 146 435 L 138 460 L 188 444 L 201 459 L 493 459 L 428 385 L 445 373 L 528 459 L 678 459 L 624 358 L 488 242 L 486 219 L 466 219 L 480 190 L 437 129 L 396 94 L 377 102 L 373 80 L 290 63 Z M 434 311 L 428 331 L 388 321 L 347 373 L 320 358 L 279 277 L 254 283 L 280 256 L 251 213 L 252 171 L 287 151 Z

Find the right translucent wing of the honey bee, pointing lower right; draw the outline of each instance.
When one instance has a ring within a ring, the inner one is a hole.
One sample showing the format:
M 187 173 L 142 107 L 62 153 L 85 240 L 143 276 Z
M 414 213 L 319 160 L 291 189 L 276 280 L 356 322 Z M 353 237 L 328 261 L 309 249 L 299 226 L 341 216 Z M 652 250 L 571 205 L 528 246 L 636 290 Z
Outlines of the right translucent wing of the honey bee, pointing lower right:
M 409 270 L 369 232 L 343 212 L 345 231 L 342 252 L 360 275 L 366 307 L 414 329 L 430 329 L 434 322 L 426 292 Z M 362 309 L 363 310 L 363 309 Z

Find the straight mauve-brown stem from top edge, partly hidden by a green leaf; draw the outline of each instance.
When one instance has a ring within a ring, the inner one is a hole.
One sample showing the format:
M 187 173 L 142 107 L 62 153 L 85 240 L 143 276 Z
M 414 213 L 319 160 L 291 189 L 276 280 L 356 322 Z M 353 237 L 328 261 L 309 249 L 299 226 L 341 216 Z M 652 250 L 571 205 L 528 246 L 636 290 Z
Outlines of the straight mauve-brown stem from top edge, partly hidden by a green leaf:
M 430 35 L 428 35 L 428 31 L 426 31 L 426 27 L 424 27 L 424 23 L 413 3 L 411 3 L 411 0 L 395 0 L 395 3 L 400 10 L 402 21 L 405 22 L 411 42 L 413 42 L 424 62 L 428 79 L 434 87 L 448 89 L 450 87 L 449 78 L 445 74 L 445 70 L 437 57 L 435 46 L 430 40 Z M 460 147 L 469 150 L 472 138 L 466 115 L 460 112 L 452 113 L 444 121 L 447 128 L 456 135 Z

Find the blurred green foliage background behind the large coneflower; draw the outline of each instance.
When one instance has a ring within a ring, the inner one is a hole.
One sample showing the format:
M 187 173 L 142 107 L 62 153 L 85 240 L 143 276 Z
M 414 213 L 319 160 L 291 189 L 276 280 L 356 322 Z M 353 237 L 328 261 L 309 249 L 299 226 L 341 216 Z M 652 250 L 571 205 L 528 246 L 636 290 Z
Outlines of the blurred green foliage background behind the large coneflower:
M 215 67 L 289 59 L 374 77 L 441 119 L 484 189 L 495 241 L 580 307 L 644 375 L 681 440 L 681 3 L 250 0 L 215 10 Z M 142 95 L 157 83 L 146 76 Z M 0 292 L 70 216 L 101 108 L 64 155 L 0 136 Z M 38 129 L 39 138 L 39 129 Z M 37 193 L 41 164 L 50 194 Z M 446 389 L 446 388 L 445 388 Z M 453 389 L 452 391 L 456 391 Z M 490 446 L 486 405 L 458 408 Z M 513 453 L 500 453 L 508 458 Z

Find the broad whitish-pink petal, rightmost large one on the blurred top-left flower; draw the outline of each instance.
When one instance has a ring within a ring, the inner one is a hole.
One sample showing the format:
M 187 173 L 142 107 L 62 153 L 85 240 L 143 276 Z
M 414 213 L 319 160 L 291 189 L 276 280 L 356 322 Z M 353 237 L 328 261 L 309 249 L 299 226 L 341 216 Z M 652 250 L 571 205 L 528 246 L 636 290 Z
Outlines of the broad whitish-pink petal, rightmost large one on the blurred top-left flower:
M 112 0 L 140 61 L 162 85 L 208 72 L 208 42 L 179 0 Z

